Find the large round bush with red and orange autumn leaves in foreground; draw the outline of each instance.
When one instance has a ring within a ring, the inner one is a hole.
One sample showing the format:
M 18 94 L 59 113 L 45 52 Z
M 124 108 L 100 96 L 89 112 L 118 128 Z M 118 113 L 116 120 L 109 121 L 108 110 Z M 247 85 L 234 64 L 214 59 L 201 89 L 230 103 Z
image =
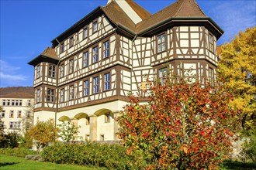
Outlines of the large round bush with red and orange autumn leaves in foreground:
M 189 82 L 189 83 L 188 83 Z M 147 168 L 215 168 L 230 151 L 237 112 L 222 86 L 174 77 L 150 83 L 148 104 L 130 97 L 118 117 L 126 154 L 143 151 Z

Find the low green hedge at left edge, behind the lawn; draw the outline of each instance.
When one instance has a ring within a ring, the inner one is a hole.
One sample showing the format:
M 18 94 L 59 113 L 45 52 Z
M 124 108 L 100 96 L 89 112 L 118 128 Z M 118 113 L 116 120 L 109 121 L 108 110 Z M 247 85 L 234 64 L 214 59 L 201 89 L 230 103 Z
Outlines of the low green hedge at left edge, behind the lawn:
M 35 155 L 36 151 L 26 148 L 0 148 L 0 154 L 25 158 L 26 155 Z

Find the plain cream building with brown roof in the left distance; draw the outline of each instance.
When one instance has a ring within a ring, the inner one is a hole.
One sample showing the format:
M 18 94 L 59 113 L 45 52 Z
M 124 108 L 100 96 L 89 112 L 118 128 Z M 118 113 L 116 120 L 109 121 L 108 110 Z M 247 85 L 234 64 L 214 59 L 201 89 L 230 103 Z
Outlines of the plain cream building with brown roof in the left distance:
M 0 101 L 3 110 L 0 113 L 5 132 L 15 131 L 23 134 L 33 117 L 33 87 L 0 88 Z

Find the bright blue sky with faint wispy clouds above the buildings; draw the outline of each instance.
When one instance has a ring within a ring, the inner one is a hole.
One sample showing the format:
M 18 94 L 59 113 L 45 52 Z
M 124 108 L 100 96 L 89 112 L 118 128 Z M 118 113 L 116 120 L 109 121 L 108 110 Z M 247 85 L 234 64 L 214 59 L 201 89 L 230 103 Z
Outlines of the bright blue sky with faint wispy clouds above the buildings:
M 150 13 L 175 0 L 134 0 Z M 107 0 L 0 0 L 0 87 L 33 86 L 27 63 L 51 46 L 50 41 Z M 218 45 L 256 26 L 256 0 L 197 0 L 203 12 L 225 33 Z

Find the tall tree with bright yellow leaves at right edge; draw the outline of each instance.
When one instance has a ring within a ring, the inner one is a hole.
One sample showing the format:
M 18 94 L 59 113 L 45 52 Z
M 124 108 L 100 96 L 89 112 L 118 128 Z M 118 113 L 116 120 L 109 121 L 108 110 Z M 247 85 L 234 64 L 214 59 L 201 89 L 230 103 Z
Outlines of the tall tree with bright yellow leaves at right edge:
M 244 134 L 256 127 L 256 26 L 222 47 L 218 76 L 233 90 L 231 106 L 241 111 Z M 250 135 L 250 134 L 249 134 Z

